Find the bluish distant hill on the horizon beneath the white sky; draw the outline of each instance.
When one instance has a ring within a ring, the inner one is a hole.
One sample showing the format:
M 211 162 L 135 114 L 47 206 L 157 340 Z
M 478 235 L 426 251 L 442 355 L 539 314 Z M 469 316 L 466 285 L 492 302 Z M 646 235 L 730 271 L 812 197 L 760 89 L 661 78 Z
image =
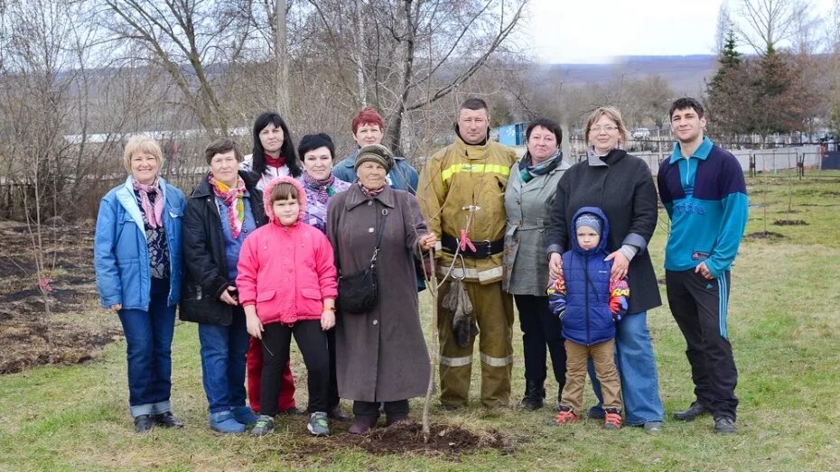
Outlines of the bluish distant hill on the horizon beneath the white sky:
M 610 64 L 550 64 L 544 66 L 543 73 L 570 86 L 593 82 L 605 84 L 621 74 L 629 78 L 658 74 L 678 94 L 699 95 L 705 88 L 705 80 L 711 79 L 716 69 L 716 56 L 697 54 L 623 56 Z

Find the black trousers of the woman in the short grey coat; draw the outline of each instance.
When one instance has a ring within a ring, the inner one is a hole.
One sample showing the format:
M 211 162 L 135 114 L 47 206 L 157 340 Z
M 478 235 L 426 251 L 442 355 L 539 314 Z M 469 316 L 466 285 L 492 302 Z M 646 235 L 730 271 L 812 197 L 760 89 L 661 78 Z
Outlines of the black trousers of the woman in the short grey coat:
M 537 384 L 546 381 L 546 346 L 551 354 L 555 380 L 563 391 L 565 385 L 565 339 L 563 324 L 548 309 L 548 297 L 514 295 L 519 311 L 519 328 L 525 354 L 525 379 Z

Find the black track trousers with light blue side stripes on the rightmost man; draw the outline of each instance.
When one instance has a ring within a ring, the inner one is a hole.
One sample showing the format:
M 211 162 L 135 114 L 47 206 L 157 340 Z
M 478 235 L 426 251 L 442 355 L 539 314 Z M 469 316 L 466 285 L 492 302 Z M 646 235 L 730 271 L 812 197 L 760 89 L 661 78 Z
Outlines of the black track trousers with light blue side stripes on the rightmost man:
M 715 418 L 735 420 L 738 371 L 726 332 L 729 282 L 729 271 L 711 281 L 694 270 L 665 273 L 667 301 L 686 338 L 697 402 Z

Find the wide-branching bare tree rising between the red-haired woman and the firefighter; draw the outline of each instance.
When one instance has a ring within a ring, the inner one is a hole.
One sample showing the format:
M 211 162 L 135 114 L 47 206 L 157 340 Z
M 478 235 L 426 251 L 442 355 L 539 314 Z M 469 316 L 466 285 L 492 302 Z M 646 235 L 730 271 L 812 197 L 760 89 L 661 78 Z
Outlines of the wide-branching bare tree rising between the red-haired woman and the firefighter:
M 352 11 L 340 1 L 310 4 L 324 41 L 349 62 L 342 69 L 355 71 L 357 104 L 383 112 L 384 143 L 398 149 L 408 114 L 447 97 L 502 51 L 527 0 L 375 0 Z

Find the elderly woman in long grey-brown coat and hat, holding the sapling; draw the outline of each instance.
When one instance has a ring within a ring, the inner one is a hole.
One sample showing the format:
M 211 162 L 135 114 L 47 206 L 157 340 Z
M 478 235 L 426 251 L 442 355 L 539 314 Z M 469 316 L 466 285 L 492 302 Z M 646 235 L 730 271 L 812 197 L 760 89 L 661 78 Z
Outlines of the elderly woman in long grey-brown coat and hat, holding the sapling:
M 353 401 L 361 434 L 378 421 L 385 403 L 386 424 L 406 420 L 408 398 L 425 394 L 429 353 L 425 347 L 413 257 L 434 247 L 417 200 L 387 186 L 394 157 L 386 147 L 369 144 L 359 150 L 357 182 L 330 199 L 327 237 L 341 274 L 368 266 L 376 247 L 379 223 L 385 218 L 378 252 L 377 306 L 366 313 L 341 309 L 336 317 L 336 371 L 341 398 Z

